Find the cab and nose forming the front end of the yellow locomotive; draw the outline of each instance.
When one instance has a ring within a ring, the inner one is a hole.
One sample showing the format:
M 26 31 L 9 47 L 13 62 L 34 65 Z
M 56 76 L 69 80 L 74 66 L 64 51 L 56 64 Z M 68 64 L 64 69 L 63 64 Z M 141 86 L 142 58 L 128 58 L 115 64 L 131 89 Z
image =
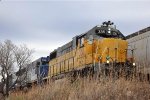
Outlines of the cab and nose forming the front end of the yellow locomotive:
M 103 22 L 86 33 L 84 52 L 91 54 L 92 63 L 125 63 L 127 59 L 127 41 L 111 21 Z

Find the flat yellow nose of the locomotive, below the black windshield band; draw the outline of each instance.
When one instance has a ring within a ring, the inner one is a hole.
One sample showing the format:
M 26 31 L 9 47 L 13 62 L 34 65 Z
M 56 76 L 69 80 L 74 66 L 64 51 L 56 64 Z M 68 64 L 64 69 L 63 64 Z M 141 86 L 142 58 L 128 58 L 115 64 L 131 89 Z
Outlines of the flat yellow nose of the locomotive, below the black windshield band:
M 100 41 L 99 55 L 102 63 L 125 62 L 127 42 L 121 39 L 104 38 Z

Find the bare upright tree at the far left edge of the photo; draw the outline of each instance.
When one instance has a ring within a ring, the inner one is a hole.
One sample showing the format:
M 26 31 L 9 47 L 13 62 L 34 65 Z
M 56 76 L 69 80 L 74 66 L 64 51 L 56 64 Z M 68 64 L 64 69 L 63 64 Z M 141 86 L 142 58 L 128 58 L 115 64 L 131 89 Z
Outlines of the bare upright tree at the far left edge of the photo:
M 14 44 L 10 40 L 6 40 L 0 45 L 0 65 L 1 65 L 1 75 L 3 83 L 3 94 L 8 95 L 9 91 L 9 76 L 11 74 L 11 68 L 14 63 L 13 56 Z M 5 86 L 5 88 L 4 88 Z

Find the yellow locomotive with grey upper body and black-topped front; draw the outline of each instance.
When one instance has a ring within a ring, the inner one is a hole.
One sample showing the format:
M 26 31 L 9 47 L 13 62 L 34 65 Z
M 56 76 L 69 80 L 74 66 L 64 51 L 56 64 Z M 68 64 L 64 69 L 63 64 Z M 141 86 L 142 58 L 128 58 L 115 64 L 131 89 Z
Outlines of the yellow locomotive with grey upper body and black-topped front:
M 49 77 L 87 70 L 99 72 L 109 65 L 127 63 L 128 43 L 112 22 L 103 22 L 50 53 Z M 119 68 L 119 67 L 118 67 Z

